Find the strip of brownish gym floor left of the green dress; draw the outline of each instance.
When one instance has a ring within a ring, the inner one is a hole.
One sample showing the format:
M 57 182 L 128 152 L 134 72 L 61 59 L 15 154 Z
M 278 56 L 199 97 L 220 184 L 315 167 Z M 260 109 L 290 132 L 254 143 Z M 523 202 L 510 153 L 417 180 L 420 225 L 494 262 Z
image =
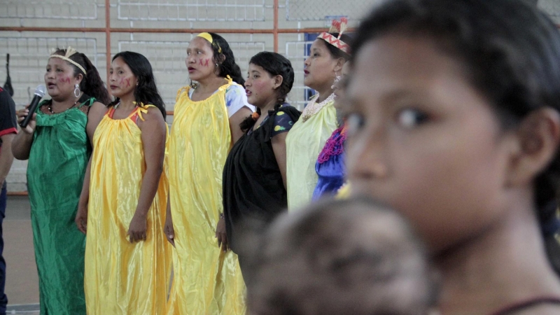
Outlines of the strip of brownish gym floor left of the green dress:
M 7 314 L 38 315 L 38 277 L 27 197 L 8 196 L 3 239 Z

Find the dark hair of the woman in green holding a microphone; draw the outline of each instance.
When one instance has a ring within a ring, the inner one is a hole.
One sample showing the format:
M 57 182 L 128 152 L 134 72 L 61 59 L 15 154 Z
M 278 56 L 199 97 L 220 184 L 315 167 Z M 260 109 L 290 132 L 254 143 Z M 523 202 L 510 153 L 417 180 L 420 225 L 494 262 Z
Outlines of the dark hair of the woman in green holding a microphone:
M 55 54 L 64 56 L 66 55 L 66 49 L 57 48 Z M 78 74 L 83 76 L 83 79 L 80 82 L 80 90 L 90 97 L 95 97 L 102 104 L 106 105 L 111 103 L 109 92 L 107 92 L 107 89 L 103 84 L 103 80 L 99 76 L 97 68 L 95 68 L 90 59 L 81 52 L 76 52 L 71 55 L 69 59 L 82 66 L 85 70 L 85 73 L 83 73 L 83 71 L 75 64 L 66 62 L 66 64 L 69 64 L 74 69 L 74 77 L 78 76 Z

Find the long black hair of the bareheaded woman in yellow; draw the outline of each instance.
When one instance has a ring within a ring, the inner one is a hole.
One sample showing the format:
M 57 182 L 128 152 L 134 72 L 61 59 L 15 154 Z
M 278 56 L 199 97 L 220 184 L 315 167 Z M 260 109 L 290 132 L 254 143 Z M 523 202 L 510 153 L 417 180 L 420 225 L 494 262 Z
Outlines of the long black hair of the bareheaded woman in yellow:
M 152 65 L 148 59 L 138 52 L 123 51 L 115 55 L 111 61 L 114 61 L 118 57 L 123 59 L 137 78 L 138 86 L 134 89 L 134 100 L 137 103 L 146 105 L 153 104 L 155 107 L 158 107 L 162 112 L 163 119 L 165 119 L 167 116 L 165 113 L 165 104 L 160 96 L 160 92 L 158 92 L 158 87 L 155 86 Z M 111 105 L 117 104 L 119 101 L 117 97 Z

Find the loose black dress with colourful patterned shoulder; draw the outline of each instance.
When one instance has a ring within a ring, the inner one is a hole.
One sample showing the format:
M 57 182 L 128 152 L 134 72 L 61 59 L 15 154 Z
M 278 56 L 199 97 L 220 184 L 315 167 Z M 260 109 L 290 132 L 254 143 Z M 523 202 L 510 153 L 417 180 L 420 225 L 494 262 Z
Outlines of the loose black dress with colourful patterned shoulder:
M 225 228 L 228 244 L 238 255 L 242 252 L 242 244 L 237 244 L 241 233 L 258 232 L 276 215 L 286 211 L 287 193 L 272 150 L 272 137 L 288 132 L 299 118 L 300 111 L 294 107 L 288 104 L 276 106 L 260 126 L 255 126 L 237 141 L 225 161 Z

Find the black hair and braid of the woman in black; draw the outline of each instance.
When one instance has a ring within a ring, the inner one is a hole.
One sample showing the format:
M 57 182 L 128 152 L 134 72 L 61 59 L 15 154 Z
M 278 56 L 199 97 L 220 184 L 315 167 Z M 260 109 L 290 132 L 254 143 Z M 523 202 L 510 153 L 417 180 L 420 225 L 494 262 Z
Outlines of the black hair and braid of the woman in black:
M 249 64 L 260 66 L 270 76 L 282 76 L 282 84 L 276 90 L 276 104 L 274 105 L 274 111 L 278 111 L 280 106 L 286 102 L 286 97 L 293 87 L 294 72 L 292 63 L 277 52 L 263 51 L 251 57 Z M 260 115 L 258 107 L 257 113 Z M 239 124 L 239 127 L 241 130 L 246 131 L 251 129 L 253 125 L 255 125 L 255 120 L 252 116 L 248 116 Z

